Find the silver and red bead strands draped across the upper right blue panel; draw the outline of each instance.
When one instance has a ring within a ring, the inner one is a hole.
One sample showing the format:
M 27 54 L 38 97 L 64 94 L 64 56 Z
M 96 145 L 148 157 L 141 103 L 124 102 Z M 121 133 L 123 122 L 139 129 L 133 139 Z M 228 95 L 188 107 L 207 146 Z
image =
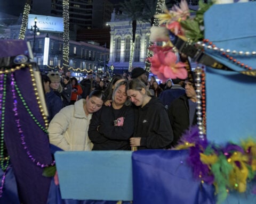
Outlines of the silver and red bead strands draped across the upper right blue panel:
M 218 48 L 216 45 L 214 45 L 209 39 L 204 39 L 203 41 L 197 42 L 197 45 L 200 45 L 204 47 L 204 49 L 212 49 L 215 50 L 216 52 L 219 52 L 222 56 L 225 56 L 230 62 L 237 64 L 241 67 L 244 67 L 247 70 L 252 70 L 252 67 L 249 65 L 246 65 L 243 62 L 240 62 L 237 60 L 234 55 L 237 56 L 256 56 L 256 51 L 236 51 L 236 50 L 230 50 L 230 49 L 224 49 L 224 48 Z

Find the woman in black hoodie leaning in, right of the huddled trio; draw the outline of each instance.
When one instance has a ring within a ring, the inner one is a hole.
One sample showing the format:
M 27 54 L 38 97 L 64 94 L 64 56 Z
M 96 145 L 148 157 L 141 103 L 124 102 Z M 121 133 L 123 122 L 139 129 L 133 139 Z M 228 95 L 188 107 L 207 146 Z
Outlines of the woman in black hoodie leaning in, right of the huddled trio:
M 135 108 L 135 129 L 130 145 L 137 149 L 162 149 L 170 145 L 173 133 L 162 102 L 152 97 L 146 85 L 139 79 L 129 81 L 128 98 Z

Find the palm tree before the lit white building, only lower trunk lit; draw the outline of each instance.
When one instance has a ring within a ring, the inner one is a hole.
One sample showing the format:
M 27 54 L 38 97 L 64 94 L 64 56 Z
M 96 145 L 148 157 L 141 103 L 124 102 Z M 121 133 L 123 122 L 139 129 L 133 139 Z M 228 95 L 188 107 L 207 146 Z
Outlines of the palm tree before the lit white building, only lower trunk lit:
M 144 1 L 141 0 L 130 0 L 120 3 L 120 10 L 123 14 L 132 21 L 132 43 L 131 43 L 131 54 L 129 61 L 129 72 L 132 69 L 133 54 L 134 54 L 134 42 L 137 28 L 137 21 L 142 20 L 142 13 L 144 7 Z

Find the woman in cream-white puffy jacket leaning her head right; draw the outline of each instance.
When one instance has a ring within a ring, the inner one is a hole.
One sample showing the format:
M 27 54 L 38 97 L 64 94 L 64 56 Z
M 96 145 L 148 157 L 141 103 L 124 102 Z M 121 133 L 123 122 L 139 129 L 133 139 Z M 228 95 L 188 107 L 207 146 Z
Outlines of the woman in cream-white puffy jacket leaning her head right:
M 91 150 L 93 144 L 88 137 L 90 120 L 92 113 L 102 107 L 104 100 L 103 92 L 94 90 L 86 99 L 62 108 L 50 122 L 50 143 L 64 151 Z

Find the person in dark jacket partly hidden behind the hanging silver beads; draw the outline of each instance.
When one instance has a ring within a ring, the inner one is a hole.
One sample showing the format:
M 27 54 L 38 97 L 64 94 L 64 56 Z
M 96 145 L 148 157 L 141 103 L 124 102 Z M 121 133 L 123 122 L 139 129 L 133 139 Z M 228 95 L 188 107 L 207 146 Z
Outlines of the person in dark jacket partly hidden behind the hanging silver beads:
M 196 91 L 193 83 L 185 81 L 186 94 L 173 100 L 168 109 L 168 115 L 171 122 L 174 139 L 171 143 L 175 147 L 182 134 L 196 125 Z

